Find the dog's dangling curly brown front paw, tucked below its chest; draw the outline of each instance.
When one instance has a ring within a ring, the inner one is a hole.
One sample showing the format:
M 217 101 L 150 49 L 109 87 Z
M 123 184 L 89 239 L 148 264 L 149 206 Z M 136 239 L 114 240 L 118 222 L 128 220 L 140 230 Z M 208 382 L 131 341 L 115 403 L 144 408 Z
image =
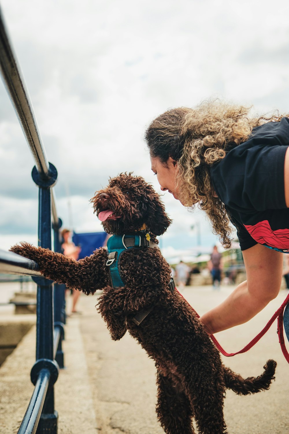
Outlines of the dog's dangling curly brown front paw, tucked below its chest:
M 97 311 L 106 322 L 111 339 L 118 341 L 127 331 L 127 318 L 123 310 L 116 305 L 113 295 L 110 291 L 104 290 L 98 299 Z

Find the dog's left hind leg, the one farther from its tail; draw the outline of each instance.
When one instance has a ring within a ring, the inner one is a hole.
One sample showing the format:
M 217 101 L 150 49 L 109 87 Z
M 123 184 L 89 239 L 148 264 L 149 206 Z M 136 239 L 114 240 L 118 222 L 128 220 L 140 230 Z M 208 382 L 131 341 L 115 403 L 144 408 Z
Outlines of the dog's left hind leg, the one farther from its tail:
M 158 402 L 156 412 L 166 434 L 195 434 L 192 407 L 181 386 L 157 372 Z

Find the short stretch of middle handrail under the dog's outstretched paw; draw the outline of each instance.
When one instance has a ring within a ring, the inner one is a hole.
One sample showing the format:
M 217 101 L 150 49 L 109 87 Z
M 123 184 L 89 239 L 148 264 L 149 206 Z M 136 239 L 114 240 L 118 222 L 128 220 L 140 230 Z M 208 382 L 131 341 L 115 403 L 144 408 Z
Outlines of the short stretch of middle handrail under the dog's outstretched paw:
M 0 273 L 42 276 L 35 261 L 6 250 L 0 250 Z

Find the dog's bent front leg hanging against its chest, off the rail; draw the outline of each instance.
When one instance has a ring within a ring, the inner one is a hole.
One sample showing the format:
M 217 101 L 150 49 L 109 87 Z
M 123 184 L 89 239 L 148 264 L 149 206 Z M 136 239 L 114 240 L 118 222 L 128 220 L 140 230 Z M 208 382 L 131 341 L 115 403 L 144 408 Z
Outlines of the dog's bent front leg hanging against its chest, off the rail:
M 107 286 L 98 298 L 97 311 L 107 324 L 111 339 L 117 341 L 127 331 L 127 315 L 124 311 L 125 288 Z

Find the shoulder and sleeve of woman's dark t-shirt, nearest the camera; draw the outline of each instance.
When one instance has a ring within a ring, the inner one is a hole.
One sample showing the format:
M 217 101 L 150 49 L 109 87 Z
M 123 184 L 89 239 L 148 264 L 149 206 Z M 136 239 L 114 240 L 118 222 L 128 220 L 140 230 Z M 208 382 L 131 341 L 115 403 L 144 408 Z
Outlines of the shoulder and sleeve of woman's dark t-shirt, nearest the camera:
M 246 142 L 210 168 L 211 182 L 221 201 L 247 212 L 286 208 L 284 160 L 288 146 L 288 118 L 254 129 Z

